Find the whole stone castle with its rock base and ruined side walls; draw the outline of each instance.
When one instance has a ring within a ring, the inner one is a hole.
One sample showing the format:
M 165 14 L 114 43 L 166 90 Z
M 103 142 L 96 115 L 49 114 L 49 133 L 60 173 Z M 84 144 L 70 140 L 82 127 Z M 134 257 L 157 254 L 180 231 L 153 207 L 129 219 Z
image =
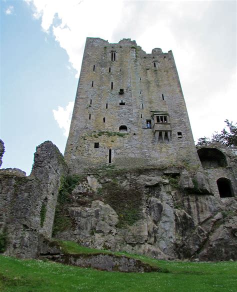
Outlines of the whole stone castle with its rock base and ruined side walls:
M 64 158 L 45 141 L 29 176 L 0 170 L 0 249 L 237 259 L 236 177 L 236 147 L 196 150 L 171 51 L 87 38 Z

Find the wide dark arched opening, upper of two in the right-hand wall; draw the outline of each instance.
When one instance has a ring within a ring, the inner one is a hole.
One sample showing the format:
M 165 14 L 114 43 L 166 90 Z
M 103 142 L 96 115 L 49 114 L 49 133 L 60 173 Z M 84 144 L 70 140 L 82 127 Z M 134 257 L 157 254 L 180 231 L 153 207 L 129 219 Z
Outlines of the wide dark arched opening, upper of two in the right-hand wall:
M 227 166 L 224 154 L 216 148 L 201 148 L 197 154 L 203 168 Z

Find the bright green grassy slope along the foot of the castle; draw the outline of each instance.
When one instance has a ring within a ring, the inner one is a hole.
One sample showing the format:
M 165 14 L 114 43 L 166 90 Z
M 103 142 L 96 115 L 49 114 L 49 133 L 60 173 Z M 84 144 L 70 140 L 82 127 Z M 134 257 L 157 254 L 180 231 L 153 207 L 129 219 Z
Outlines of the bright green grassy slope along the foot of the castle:
M 61 243 L 71 253 L 101 252 L 73 242 Z M 126 253 L 115 253 L 125 254 Z M 130 255 L 167 268 L 169 273 L 119 273 L 0 255 L 2 291 L 236 291 L 237 262 L 174 262 Z

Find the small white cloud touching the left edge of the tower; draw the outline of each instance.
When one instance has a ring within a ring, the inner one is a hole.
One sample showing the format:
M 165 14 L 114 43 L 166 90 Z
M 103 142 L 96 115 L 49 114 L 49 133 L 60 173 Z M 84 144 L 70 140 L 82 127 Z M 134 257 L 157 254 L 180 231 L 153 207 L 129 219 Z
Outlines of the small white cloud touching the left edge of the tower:
M 73 106 L 74 102 L 71 101 L 65 108 L 58 106 L 57 110 L 52 110 L 53 117 L 59 128 L 63 130 L 63 135 L 65 137 L 67 137 L 69 133 Z

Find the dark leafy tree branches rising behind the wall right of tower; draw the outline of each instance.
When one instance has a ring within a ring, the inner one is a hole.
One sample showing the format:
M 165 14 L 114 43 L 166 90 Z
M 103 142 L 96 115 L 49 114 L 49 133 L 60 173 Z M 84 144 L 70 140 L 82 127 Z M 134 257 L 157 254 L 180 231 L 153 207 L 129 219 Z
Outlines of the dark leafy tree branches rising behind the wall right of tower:
M 224 121 L 227 127 L 220 132 L 215 132 L 211 135 L 210 138 L 202 137 L 197 139 L 196 146 L 208 146 L 214 143 L 221 143 L 223 145 L 229 146 L 237 146 L 237 123 L 233 124 L 233 122 L 229 122 L 228 120 Z

